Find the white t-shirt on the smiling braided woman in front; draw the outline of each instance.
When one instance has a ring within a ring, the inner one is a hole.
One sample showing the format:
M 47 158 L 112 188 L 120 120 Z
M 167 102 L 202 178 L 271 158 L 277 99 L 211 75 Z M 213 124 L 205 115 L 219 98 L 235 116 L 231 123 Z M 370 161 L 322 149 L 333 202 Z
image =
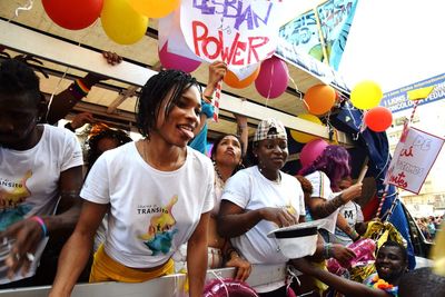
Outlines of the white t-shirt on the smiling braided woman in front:
M 187 147 L 186 162 L 160 171 L 139 155 L 136 142 L 103 152 L 91 168 L 80 196 L 110 204 L 105 251 L 128 267 L 166 263 L 211 210 L 214 167 Z

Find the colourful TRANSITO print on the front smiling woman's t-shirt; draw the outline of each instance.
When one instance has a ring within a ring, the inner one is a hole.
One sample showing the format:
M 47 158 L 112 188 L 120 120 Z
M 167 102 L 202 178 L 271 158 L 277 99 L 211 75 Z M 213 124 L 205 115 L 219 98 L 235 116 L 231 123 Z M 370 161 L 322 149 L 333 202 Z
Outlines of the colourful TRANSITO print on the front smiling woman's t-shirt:
M 145 211 L 138 209 L 138 214 L 154 214 L 155 211 L 151 210 L 157 209 L 156 212 L 158 215 L 151 217 L 148 232 L 139 236 L 144 240 L 144 244 L 152 251 L 154 256 L 170 251 L 171 241 L 178 231 L 178 229 L 174 229 L 176 219 L 171 214 L 171 209 L 177 201 L 178 196 L 175 195 L 166 206 L 150 207 L 150 209 L 144 209 Z

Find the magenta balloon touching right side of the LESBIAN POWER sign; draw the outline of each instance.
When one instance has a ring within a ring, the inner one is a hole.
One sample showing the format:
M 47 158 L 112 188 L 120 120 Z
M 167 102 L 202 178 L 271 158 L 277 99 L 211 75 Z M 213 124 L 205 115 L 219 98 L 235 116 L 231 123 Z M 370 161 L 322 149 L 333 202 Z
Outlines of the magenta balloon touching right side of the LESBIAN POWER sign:
M 288 79 L 287 65 L 273 56 L 261 62 L 261 69 L 255 80 L 255 88 L 263 97 L 274 99 L 285 92 Z

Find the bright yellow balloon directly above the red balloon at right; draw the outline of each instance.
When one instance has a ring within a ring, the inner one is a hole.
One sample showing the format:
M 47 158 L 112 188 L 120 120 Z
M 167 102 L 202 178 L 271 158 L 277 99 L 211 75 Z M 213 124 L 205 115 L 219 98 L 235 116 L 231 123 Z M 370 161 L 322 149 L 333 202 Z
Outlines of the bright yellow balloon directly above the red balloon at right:
M 358 109 L 378 106 L 383 97 L 380 87 L 370 80 L 358 82 L 350 92 L 350 102 Z

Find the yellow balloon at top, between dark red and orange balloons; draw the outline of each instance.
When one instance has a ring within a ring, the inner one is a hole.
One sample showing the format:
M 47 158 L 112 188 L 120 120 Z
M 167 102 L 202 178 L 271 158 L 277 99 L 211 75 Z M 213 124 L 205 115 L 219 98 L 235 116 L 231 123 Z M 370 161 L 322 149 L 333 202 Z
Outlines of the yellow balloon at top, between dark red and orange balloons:
M 139 41 L 148 27 L 148 18 L 136 12 L 127 0 L 105 0 L 100 22 L 107 36 L 119 44 Z

